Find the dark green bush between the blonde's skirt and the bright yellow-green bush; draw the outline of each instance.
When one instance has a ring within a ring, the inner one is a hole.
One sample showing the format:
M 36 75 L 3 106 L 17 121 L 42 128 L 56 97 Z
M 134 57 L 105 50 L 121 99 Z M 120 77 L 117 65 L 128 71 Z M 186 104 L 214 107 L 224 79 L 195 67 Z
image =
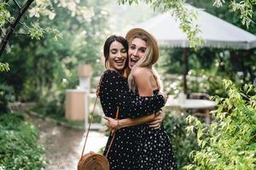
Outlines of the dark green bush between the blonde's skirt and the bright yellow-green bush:
M 184 165 L 192 162 L 189 157 L 189 153 L 192 150 L 197 150 L 198 146 L 196 144 L 196 138 L 194 134 L 189 134 L 185 130 L 188 126 L 185 121 L 185 116 L 179 116 L 180 114 L 175 113 L 175 111 L 165 111 L 165 129 L 168 134 L 173 149 L 175 151 L 175 156 L 177 160 L 177 167 L 180 169 Z

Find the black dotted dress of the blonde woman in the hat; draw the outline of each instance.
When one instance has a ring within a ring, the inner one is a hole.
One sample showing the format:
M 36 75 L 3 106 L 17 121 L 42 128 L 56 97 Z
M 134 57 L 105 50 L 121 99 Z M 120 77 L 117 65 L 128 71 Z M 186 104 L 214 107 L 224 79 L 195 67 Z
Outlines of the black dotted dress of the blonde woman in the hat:
M 154 90 L 154 94 L 158 94 L 158 90 Z M 177 170 L 172 144 L 163 123 L 159 129 L 151 128 L 148 124 L 143 124 L 139 129 L 137 133 L 137 138 L 139 138 L 137 169 Z

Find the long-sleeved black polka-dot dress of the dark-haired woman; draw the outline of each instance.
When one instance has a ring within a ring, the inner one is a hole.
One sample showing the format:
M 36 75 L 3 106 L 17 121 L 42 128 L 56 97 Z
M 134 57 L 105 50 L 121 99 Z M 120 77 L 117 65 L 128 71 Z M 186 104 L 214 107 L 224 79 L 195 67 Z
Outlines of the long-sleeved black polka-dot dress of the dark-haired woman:
M 117 107 L 119 107 L 119 119 L 124 119 L 150 115 L 165 105 L 161 95 L 139 97 L 131 93 L 127 80 L 116 71 L 104 71 L 99 95 L 104 114 L 112 118 L 115 118 Z M 124 127 L 116 132 L 107 156 L 111 170 L 137 169 L 139 159 L 137 131 L 140 127 Z M 110 135 L 108 138 L 104 155 L 112 137 Z

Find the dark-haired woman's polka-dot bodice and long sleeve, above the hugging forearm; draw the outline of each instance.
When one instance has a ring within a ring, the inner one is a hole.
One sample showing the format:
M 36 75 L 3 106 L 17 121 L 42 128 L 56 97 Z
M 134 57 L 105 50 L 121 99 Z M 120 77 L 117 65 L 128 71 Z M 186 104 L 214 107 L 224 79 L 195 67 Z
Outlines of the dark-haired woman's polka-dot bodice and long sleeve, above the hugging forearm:
M 114 71 L 106 71 L 104 73 L 99 94 L 104 114 L 110 117 L 115 116 L 117 107 L 124 112 L 122 116 L 125 117 L 147 116 L 165 105 L 166 102 L 163 95 L 140 97 L 132 94 L 129 91 L 127 82 Z M 108 105 L 109 103 L 111 105 Z

